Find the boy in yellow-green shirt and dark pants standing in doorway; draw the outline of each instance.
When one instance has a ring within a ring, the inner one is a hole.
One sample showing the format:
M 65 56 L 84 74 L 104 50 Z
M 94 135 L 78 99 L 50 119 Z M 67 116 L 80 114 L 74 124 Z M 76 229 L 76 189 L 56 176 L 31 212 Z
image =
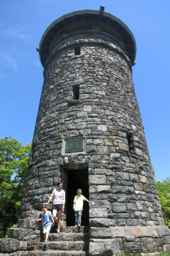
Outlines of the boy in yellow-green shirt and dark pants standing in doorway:
M 84 196 L 82 196 L 82 189 L 77 190 L 77 196 L 74 199 L 73 209 L 75 211 L 76 227 L 81 227 L 82 222 L 82 211 L 83 211 L 83 201 L 89 202 Z

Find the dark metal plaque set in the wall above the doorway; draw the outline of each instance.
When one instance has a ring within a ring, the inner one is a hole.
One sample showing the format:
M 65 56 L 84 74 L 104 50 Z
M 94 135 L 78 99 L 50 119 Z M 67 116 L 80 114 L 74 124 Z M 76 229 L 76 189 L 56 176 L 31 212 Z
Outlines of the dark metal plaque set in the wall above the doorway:
M 75 153 L 75 152 L 83 152 L 83 139 L 81 140 L 71 140 L 65 142 L 65 153 Z

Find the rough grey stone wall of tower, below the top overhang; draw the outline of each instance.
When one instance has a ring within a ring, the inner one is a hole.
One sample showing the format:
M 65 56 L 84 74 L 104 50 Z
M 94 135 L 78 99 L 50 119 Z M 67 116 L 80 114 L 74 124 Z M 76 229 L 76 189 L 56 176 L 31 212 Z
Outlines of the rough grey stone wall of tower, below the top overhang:
M 84 138 L 85 151 L 64 154 L 71 138 Z M 90 255 L 170 250 L 128 54 L 95 27 L 63 34 L 48 54 L 19 227 L 30 227 L 58 181 L 67 194 L 69 169 L 84 168 Z

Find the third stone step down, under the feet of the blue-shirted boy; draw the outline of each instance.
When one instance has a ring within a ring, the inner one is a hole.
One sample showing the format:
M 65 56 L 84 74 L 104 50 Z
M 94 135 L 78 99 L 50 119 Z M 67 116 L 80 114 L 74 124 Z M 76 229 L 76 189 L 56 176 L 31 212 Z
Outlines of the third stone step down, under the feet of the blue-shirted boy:
M 48 242 L 47 245 L 44 245 L 43 242 L 38 242 L 37 244 L 38 250 L 61 250 L 61 251 L 88 251 L 89 249 L 89 242 Z

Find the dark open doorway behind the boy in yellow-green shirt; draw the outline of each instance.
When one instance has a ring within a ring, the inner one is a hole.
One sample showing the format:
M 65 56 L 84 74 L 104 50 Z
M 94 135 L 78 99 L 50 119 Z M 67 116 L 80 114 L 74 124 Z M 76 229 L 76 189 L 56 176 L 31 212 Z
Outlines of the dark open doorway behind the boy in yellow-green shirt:
M 88 169 L 68 170 L 67 186 L 67 226 L 75 226 L 75 211 L 73 201 L 77 196 L 77 189 L 82 189 L 82 195 L 89 200 Z M 82 226 L 89 225 L 89 205 L 84 201 Z

